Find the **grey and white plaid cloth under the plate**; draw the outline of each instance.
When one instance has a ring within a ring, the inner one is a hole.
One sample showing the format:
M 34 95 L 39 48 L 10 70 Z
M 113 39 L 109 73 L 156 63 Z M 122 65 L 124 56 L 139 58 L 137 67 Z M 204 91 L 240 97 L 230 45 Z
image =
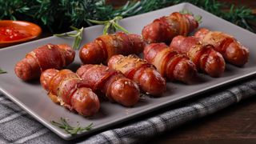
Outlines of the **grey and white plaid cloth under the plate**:
M 150 118 L 71 142 L 59 138 L 4 95 L 0 95 L 0 143 L 138 143 L 185 122 L 222 110 L 244 98 L 256 96 L 256 78 L 226 87 L 226 90 L 216 94 L 204 94 L 206 97 L 196 99 L 193 103 L 167 108 Z

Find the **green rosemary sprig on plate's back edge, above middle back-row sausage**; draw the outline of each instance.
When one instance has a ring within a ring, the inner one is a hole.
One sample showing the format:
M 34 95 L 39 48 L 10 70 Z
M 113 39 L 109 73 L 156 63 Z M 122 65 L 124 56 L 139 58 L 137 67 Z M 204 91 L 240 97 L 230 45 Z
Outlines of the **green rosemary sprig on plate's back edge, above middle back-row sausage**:
M 116 16 L 113 19 L 108 21 L 96 21 L 92 19 L 88 19 L 89 22 L 96 23 L 99 25 L 104 25 L 103 34 L 108 34 L 109 32 L 116 32 L 117 30 L 122 30 L 126 34 L 129 34 L 129 31 L 119 25 L 118 21 L 122 19 L 122 16 Z

